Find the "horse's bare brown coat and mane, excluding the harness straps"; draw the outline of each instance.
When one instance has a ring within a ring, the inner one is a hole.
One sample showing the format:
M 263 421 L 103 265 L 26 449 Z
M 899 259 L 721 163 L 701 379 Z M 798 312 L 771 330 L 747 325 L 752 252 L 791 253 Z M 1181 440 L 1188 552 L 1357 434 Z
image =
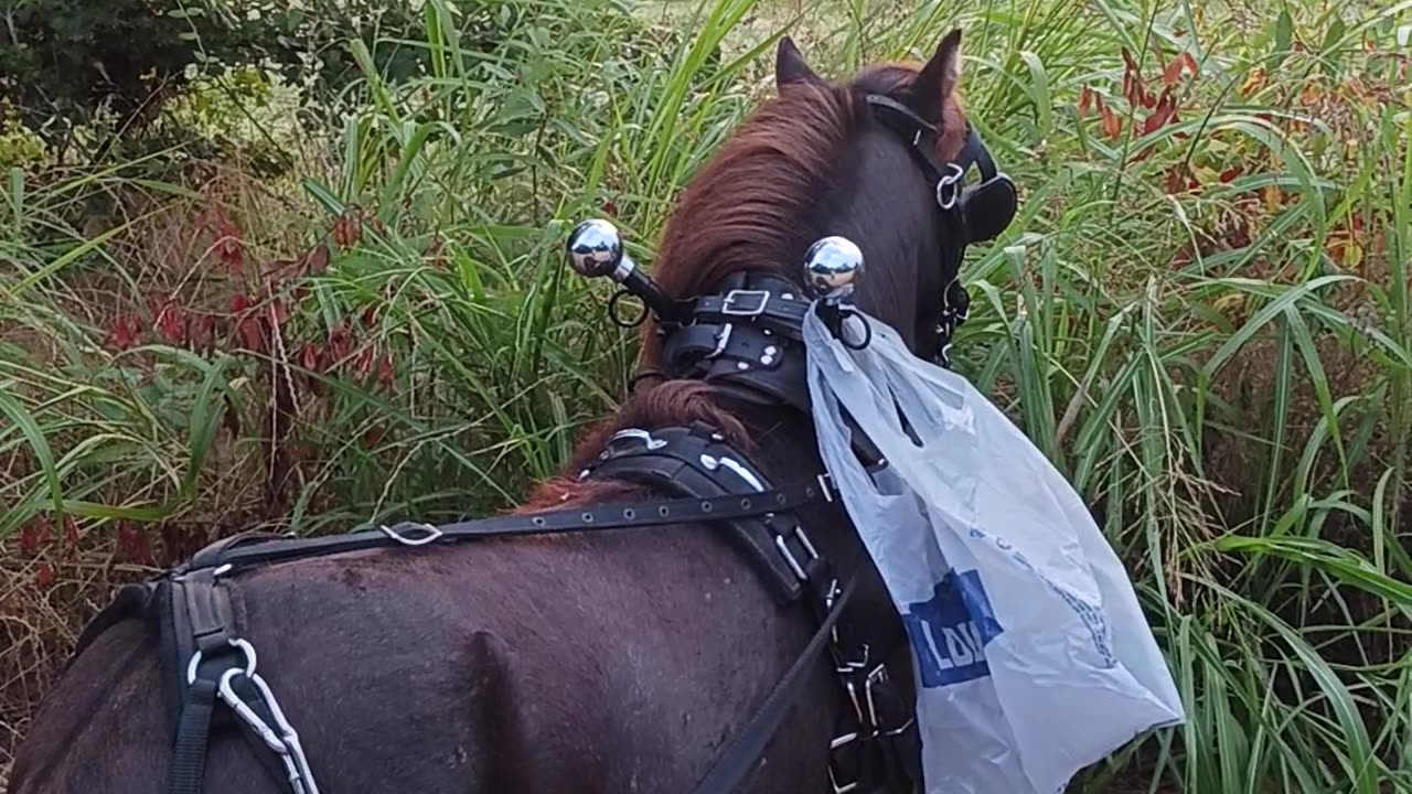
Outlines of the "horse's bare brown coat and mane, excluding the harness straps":
M 939 185 L 912 144 L 935 146 L 921 155 L 943 164 L 967 144 L 959 42 L 952 32 L 921 68 L 875 65 L 834 83 L 784 40 L 779 96 L 692 181 L 666 226 L 662 290 L 712 295 L 747 271 L 799 284 L 810 243 L 842 235 L 867 257 L 858 308 L 935 355 L 966 240 L 949 239 L 962 226 L 939 220 Z M 870 97 L 935 136 L 898 136 Z M 700 422 L 772 483 L 823 473 L 808 411 L 748 379 L 698 377 L 672 335 L 648 328 L 645 363 L 664 379 L 641 383 L 520 516 L 666 499 L 652 485 L 580 476 L 626 428 Z M 795 516 L 823 558 L 858 572 L 850 609 L 870 636 L 898 639 L 873 654 L 909 698 L 898 613 L 847 516 L 827 502 Z M 251 567 L 225 585 L 326 793 L 692 791 L 818 627 L 818 615 L 781 605 L 714 521 L 391 545 Z M 178 728 L 151 613 L 86 639 L 35 716 L 11 791 L 168 786 Z M 808 671 L 741 790 L 833 791 L 830 740 L 849 706 L 832 664 L 815 658 Z M 213 722 L 203 791 L 287 791 L 278 763 L 275 776 L 261 770 L 268 759 L 232 722 Z

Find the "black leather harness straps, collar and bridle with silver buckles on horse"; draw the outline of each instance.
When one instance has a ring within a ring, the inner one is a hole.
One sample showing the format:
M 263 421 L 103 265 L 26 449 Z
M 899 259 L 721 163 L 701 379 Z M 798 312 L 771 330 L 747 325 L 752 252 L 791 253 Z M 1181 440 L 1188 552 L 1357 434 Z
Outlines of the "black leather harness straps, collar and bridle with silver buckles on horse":
M 997 236 L 1014 218 L 1015 189 L 1000 174 L 980 137 L 969 130 L 962 155 L 935 157 L 936 130 L 899 102 L 870 95 L 877 117 L 911 144 L 936 179 L 946 294 L 938 318 L 939 360 L 955 328 L 966 319 L 967 297 L 957 278 L 970 242 Z M 963 191 L 976 164 L 983 181 Z M 716 295 L 681 301 L 679 316 L 664 322 L 664 374 L 707 379 L 737 398 L 779 403 L 808 411 L 801 324 L 810 301 L 801 287 L 770 273 L 738 273 Z M 867 439 L 858 455 L 884 466 Z M 83 630 L 76 657 L 104 629 L 128 616 L 155 620 L 161 637 L 165 692 L 174 725 L 171 794 L 198 794 L 213 732 L 232 725 L 250 740 L 271 774 L 295 794 L 318 794 L 313 769 L 271 687 L 258 672 L 257 648 L 243 633 L 240 572 L 253 567 L 364 548 L 442 545 L 486 537 L 590 533 L 710 523 L 723 527 L 747 562 L 768 582 L 781 605 L 805 602 L 816 630 L 794 665 L 699 781 L 696 794 L 726 794 L 748 776 L 765 745 L 802 695 L 803 684 L 827 651 L 844 699 L 830 746 L 834 794 L 922 788 L 921 739 L 912 705 L 898 691 L 882 658 L 905 643 L 868 632 L 891 622 L 849 609 L 857 572 L 840 572 L 813 545 L 795 511 L 833 502 L 827 475 L 774 485 L 707 425 L 633 428 L 616 434 L 580 479 L 611 478 L 668 493 L 654 499 L 566 510 L 498 516 L 433 527 L 402 523 L 343 535 L 291 538 L 240 534 L 217 541 L 155 581 L 128 585 Z M 846 519 L 846 516 L 844 516 Z M 71 657 L 72 661 L 72 657 Z M 225 704 L 226 709 L 219 709 Z M 318 759 L 315 759 L 318 760 Z

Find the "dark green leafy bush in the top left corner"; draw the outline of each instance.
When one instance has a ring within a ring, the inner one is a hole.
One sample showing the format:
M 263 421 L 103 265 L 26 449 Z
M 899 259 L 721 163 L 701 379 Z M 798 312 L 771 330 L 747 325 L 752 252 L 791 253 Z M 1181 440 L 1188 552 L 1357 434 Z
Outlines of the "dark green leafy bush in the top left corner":
M 507 10 L 521 13 L 510 3 L 467 13 L 472 30 L 463 44 L 496 41 L 507 23 L 496 11 Z M 0 92 L 51 147 L 86 144 L 86 157 L 124 154 L 109 147 L 143 140 L 165 102 L 193 82 L 215 81 L 206 90 L 258 97 L 249 93 L 258 81 L 222 79 L 229 69 L 239 76 L 257 66 L 326 97 L 356 73 L 350 40 L 422 40 L 419 3 L 411 0 L 18 0 L 6 23 Z M 383 55 L 378 69 L 393 78 L 421 69 L 415 47 L 388 47 Z M 96 140 L 76 134 L 93 124 L 103 131 Z M 168 131 L 143 153 L 179 141 L 184 131 Z

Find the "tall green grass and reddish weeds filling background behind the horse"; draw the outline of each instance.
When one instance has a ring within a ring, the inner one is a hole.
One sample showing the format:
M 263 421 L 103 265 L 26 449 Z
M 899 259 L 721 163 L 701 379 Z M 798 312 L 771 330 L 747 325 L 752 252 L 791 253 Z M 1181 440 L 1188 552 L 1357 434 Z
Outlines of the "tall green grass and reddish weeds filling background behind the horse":
M 641 261 L 771 92 L 964 28 L 1022 189 L 957 369 L 1096 506 L 1189 722 L 1075 790 L 1412 791 L 1412 3 L 11 0 L 0 784 L 112 585 L 239 530 L 513 504 Z

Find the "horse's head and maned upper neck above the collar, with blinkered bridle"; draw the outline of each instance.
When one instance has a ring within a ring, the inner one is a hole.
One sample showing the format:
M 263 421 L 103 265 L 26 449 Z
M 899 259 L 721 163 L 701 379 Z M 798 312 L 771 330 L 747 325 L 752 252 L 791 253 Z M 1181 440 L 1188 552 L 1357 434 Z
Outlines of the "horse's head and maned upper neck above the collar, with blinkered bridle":
M 674 298 L 719 290 L 740 273 L 802 285 L 810 247 L 856 244 L 867 277 L 858 308 L 887 322 L 921 356 L 942 359 L 964 318 L 959 270 L 966 246 L 994 239 L 1015 215 L 960 97 L 962 34 L 925 64 L 888 62 L 826 81 L 785 37 L 778 95 L 760 107 L 683 191 L 657 253 Z M 964 186 L 976 167 L 980 182 Z M 644 357 L 661 363 L 652 325 Z

